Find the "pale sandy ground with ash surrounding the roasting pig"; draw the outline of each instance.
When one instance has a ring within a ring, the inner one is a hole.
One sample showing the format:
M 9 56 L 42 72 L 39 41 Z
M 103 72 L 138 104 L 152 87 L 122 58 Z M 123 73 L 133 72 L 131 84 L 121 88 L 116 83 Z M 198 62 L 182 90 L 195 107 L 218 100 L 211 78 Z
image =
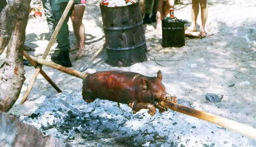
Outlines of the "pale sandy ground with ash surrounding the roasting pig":
M 191 1 L 181 2 L 175 6 L 175 15 L 190 20 Z M 178 103 L 256 128 L 256 15 L 253 13 L 256 2 L 209 0 L 208 3 L 207 23 L 212 23 L 213 35 L 205 39 L 186 38 L 186 45 L 181 48 L 162 48 L 160 38 L 155 35 L 155 23 L 144 25 L 147 62 L 127 68 L 111 67 L 103 51 L 89 71 L 119 69 L 156 76 L 161 70 L 167 92 L 177 96 Z M 79 70 L 104 43 L 101 20 L 97 0 L 88 1 L 83 20 L 87 52 L 76 60 L 76 51 L 71 52 L 73 69 Z M 201 25 L 200 15 L 198 25 Z M 74 44 L 71 22 L 69 27 L 70 44 Z M 50 38 L 47 29 L 45 20 L 29 19 L 25 44 L 35 48 L 29 54 L 42 55 Z M 4 57 L 2 54 L 0 61 Z M 155 62 L 154 58 L 171 61 Z M 46 134 L 69 141 L 74 147 L 256 147 L 256 140 L 172 110 L 151 117 L 146 110 L 133 115 L 127 105 L 119 109 L 109 101 L 96 100 L 87 105 L 81 97 L 81 79 L 45 66 L 43 69 L 63 93 L 56 95 L 46 80 L 38 76 L 29 101 L 19 105 L 35 72 L 32 67 L 24 68 L 26 81 L 9 113 Z M 208 102 L 206 93 L 223 94 L 224 98 L 219 103 Z M 33 115 L 36 118 L 32 119 L 32 113 L 38 116 Z

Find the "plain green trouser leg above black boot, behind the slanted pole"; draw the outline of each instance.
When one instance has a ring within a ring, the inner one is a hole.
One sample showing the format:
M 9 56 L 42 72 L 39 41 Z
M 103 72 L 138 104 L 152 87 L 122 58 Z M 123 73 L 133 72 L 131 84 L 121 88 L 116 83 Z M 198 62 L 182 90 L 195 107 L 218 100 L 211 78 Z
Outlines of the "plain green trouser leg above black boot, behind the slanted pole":
M 52 0 L 54 1 L 54 0 Z M 53 12 L 53 18 L 54 18 L 54 27 L 56 28 L 59 20 L 61 19 L 61 16 L 67 7 L 67 3 L 54 3 L 52 2 L 52 12 Z M 57 35 L 57 42 L 58 46 L 57 48 L 61 49 L 61 51 L 69 51 L 70 49 L 70 43 L 69 43 L 69 30 L 68 30 L 68 19 L 72 13 L 73 8 L 70 9 L 69 13 L 67 14 L 66 19 L 64 20 L 63 25 L 60 28 L 60 31 Z

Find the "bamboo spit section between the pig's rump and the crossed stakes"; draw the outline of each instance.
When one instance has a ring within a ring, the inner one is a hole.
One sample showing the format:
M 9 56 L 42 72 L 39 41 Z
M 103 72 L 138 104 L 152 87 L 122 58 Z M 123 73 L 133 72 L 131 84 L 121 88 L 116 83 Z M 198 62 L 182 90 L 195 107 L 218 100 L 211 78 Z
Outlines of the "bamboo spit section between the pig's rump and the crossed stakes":
M 41 59 L 41 58 L 37 58 L 37 57 L 33 57 L 33 56 L 30 56 L 35 62 L 37 62 L 38 64 L 41 64 L 41 65 L 46 65 L 50 68 L 55 68 L 57 69 L 58 71 L 61 71 L 61 72 L 64 72 L 64 73 L 67 73 L 71 76 L 76 76 L 77 78 L 80 78 L 80 79 L 85 79 L 86 76 L 89 74 L 89 73 L 81 73 L 79 71 L 76 71 L 76 70 L 73 70 L 73 69 L 70 69 L 70 68 L 66 68 L 64 66 L 61 66 L 61 65 L 58 65 L 52 61 L 48 61 L 48 60 L 44 60 L 44 59 Z

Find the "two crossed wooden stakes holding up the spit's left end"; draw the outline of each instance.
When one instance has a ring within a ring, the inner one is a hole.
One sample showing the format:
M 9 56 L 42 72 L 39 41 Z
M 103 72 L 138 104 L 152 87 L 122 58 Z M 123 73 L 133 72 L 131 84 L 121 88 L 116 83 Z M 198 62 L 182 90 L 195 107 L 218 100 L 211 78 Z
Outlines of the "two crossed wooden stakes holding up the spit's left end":
M 52 34 L 52 37 L 47 45 L 47 48 L 45 49 L 44 51 L 44 54 L 43 54 L 43 57 L 42 59 L 46 59 L 47 55 L 49 54 L 49 51 L 50 51 L 50 48 L 52 47 L 53 43 L 54 43 L 54 40 L 58 34 L 58 32 L 60 31 L 60 28 L 65 20 L 65 18 L 67 17 L 67 14 L 68 12 L 70 11 L 70 8 L 72 7 L 74 3 L 74 0 L 70 0 L 67 4 L 67 7 L 65 8 L 64 10 L 64 13 L 62 14 L 61 16 L 61 19 L 60 21 L 58 22 L 58 25 L 56 26 L 53 34 Z M 33 65 L 35 67 L 35 74 L 34 76 L 32 77 L 32 80 L 30 81 L 29 83 L 29 86 L 27 87 L 26 89 L 26 93 L 25 95 L 23 96 L 23 99 L 21 100 L 20 104 L 23 104 L 26 99 L 28 98 L 29 96 L 29 93 L 31 92 L 33 86 L 34 86 L 34 83 L 35 83 L 35 80 L 38 76 L 39 73 L 41 73 L 42 76 L 44 76 L 44 78 L 52 85 L 52 87 L 58 92 L 60 93 L 61 90 L 60 88 L 58 88 L 58 86 L 52 81 L 52 79 L 50 79 L 50 77 L 42 70 L 41 66 L 39 66 L 27 53 L 26 51 L 23 52 L 23 55 L 24 57 L 31 63 L 31 65 Z

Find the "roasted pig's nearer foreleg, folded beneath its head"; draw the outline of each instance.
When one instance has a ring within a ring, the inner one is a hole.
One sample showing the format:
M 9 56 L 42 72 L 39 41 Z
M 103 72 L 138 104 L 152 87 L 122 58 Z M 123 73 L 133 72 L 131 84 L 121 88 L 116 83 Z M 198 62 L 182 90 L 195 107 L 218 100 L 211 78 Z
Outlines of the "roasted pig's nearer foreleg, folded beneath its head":
M 148 113 L 151 116 L 154 116 L 154 114 L 156 113 L 156 107 L 151 103 L 133 102 L 132 104 L 130 103 L 130 107 L 132 108 L 134 114 L 140 111 L 141 109 L 148 109 Z

